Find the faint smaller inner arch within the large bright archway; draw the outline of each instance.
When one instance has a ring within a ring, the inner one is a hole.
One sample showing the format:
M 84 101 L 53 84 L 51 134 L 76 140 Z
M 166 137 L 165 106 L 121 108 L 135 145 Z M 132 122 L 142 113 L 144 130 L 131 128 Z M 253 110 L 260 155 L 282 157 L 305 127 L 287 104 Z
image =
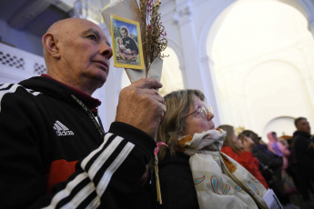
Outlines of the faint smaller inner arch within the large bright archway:
M 276 71 L 271 68 L 274 66 Z M 271 72 L 274 75 L 265 76 Z M 239 92 L 242 94 L 237 98 L 242 108 L 238 111 L 241 112 L 237 116 L 238 121 L 261 133 L 271 118 L 313 113 L 313 107 L 304 102 L 309 99 L 310 92 L 301 77 L 299 67 L 286 60 L 272 59 L 251 67 L 240 79 Z

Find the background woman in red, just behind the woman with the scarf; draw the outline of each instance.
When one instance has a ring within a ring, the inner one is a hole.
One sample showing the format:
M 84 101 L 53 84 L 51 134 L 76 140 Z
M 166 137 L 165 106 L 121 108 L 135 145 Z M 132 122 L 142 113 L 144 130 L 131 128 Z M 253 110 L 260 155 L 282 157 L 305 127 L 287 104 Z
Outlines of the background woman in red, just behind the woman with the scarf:
M 258 158 L 251 153 L 254 148 L 253 140 L 243 134 L 239 134 L 239 137 L 237 137 L 235 130 L 231 125 L 223 124 L 220 125 L 219 128 L 227 132 L 221 152 L 228 154 L 229 157 L 247 168 L 247 170 L 268 189 L 268 184 L 259 171 Z

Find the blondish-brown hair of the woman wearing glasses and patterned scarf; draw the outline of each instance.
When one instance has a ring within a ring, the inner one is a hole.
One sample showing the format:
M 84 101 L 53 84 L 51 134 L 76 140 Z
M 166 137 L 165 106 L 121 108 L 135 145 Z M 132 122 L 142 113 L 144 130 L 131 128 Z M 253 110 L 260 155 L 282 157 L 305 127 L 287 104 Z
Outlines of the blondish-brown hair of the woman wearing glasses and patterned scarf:
M 201 101 L 205 101 L 205 95 L 195 89 L 179 90 L 165 96 L 167 113 L 157 131 L 157 142 L 168 145 L 170 154 L 175 154 L 177 150 L 177 139 L 186 128 L 184 116 L 188 113 L 190 106 L 194 105 L 195 96 Z M 161 146 L 159 150 L 159 160 L 162 160 L 167 153 L 166 146 Z

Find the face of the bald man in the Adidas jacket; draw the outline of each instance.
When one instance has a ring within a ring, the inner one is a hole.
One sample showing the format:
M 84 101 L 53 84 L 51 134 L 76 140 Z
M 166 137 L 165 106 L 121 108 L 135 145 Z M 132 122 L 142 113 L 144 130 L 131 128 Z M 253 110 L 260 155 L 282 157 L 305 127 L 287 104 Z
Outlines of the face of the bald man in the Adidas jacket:
M 104 32 L 94 23 L 78 19 L 63 28 L 57 43 L 65 75 L 76 80 L 78 86 L 104 85 L 109 73 L 112 49 Z M 94 83 L 95 82 L 95 83 Z

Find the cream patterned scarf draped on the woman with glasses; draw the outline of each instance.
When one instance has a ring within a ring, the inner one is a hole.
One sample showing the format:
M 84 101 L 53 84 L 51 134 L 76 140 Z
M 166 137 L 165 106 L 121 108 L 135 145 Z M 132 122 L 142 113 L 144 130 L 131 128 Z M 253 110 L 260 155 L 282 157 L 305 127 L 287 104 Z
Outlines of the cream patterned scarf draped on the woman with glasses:
M 181 137 L 178 145 L 190 155 L 189 166 L 200 209 L 268 208 L 263 184 L 227 154 L 220 153 L 226 132 L 208 130 Z

